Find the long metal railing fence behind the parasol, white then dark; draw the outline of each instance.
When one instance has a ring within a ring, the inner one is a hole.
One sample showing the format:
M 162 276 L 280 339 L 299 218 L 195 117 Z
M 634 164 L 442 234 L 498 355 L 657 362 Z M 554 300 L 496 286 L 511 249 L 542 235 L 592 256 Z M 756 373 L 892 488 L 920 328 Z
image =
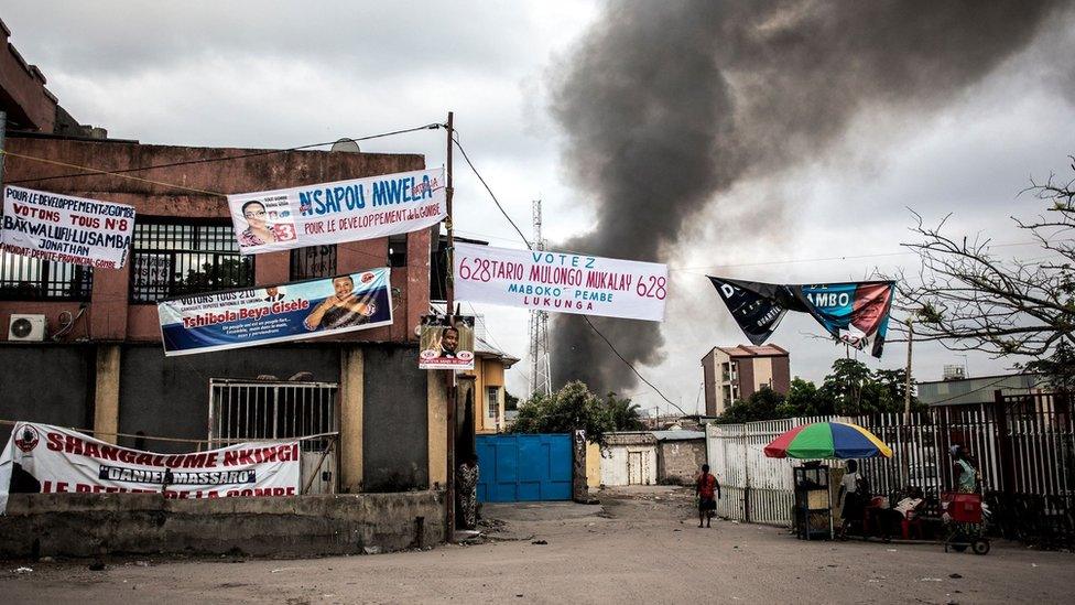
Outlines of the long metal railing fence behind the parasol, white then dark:
M 790 465 L 765 458 L 764 446 L 799 424 L 859 424 L 892 447 L 891 458 L 868 458 L 860 471 L 875 495 L 905 486 L 937 496 L 954 483 L 949 447 L 963 445 L 979 471 L 991 529 L 1008 538 L 1075 549 L 1075 423 L 1066 397 L 1003 396 L 992 403 L 933 408 L 913 414 L 794 418 L 706 428 L 709 465 L 724 488 L 718 512 L 731 519 L 791 522 Z

